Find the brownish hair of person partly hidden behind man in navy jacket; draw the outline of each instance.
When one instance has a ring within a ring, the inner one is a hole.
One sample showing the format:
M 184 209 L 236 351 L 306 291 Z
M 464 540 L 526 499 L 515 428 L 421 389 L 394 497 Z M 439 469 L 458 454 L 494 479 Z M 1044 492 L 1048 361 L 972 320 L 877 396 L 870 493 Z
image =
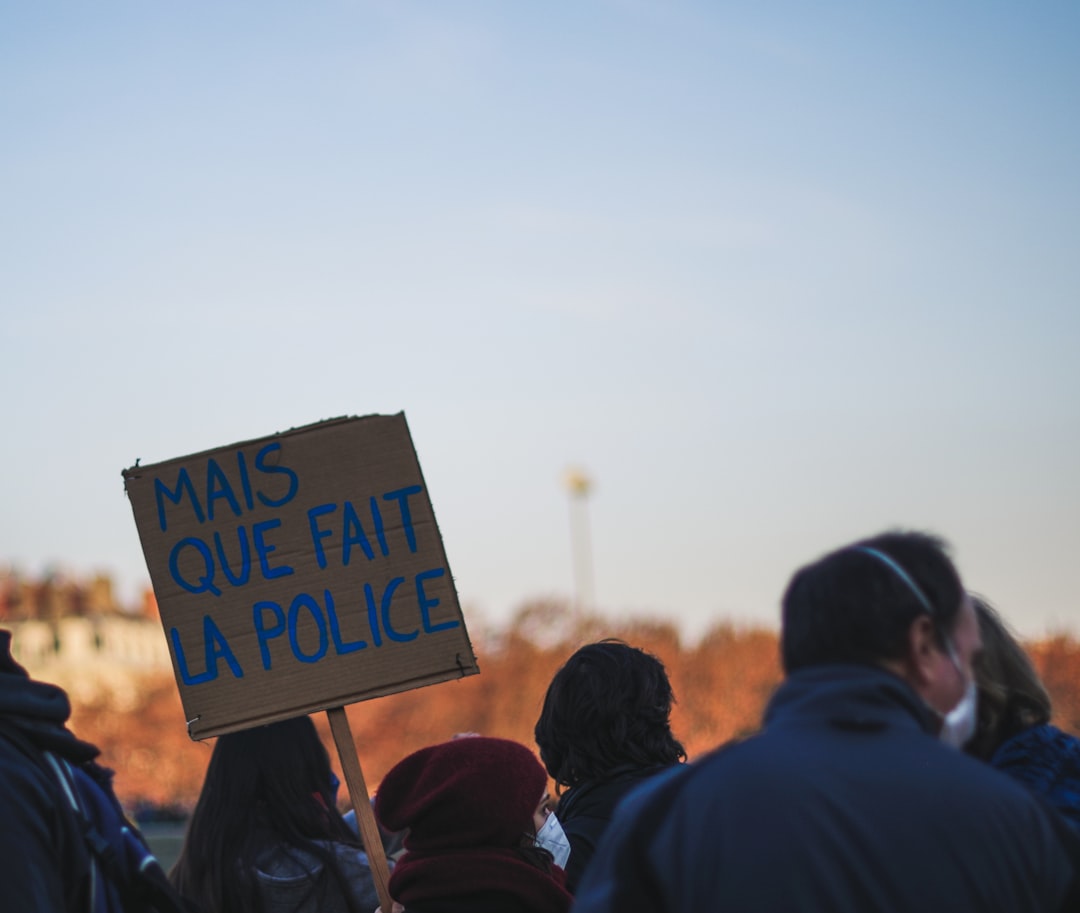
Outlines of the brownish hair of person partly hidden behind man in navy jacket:
M 978 727 L 968 751 L 989 760 L 1016 733 L 1050 722 L 1050 695 L 1031 659 L 994 606 L 972 594 L 983 650 L 975 657 Z

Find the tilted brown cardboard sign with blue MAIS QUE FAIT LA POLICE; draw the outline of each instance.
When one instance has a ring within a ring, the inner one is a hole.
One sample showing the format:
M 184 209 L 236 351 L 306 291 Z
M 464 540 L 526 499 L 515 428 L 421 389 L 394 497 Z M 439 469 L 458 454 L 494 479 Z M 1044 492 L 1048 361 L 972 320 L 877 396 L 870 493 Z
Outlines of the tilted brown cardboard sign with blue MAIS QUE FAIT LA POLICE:
M 403 414 L 123 475 L 193 739 L 480 671 Z

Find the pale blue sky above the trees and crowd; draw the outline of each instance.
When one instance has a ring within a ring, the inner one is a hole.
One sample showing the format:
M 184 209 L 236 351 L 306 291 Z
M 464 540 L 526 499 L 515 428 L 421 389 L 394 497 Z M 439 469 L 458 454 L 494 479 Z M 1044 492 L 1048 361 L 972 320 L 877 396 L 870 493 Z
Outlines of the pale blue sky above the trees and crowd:
M 1080 5 L 0 4 L 0 562 L 404 409 L 458 591 L 774 625 L 914 526 L 1080 632 Z

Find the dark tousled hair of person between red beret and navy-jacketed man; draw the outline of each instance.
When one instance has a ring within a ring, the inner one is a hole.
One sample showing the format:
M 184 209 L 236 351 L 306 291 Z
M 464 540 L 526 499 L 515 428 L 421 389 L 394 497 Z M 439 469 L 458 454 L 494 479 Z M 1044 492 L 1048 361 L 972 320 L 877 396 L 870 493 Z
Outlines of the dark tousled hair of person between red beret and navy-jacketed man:
M 602 779 L 617 767 L 678 763 L 675 702 L 664 664 L 621 641 L 581 647 L 552 679 L 535 736 L 556 787 Z

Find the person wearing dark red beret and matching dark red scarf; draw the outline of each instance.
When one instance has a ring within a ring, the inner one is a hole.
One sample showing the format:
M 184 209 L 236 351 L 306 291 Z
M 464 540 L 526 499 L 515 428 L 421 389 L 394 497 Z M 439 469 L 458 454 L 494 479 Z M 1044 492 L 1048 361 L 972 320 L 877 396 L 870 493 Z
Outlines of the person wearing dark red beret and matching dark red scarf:
M 407 830 L 391 896 L 406 913 L 567 913 L 563 870 L 536 838 L 546 788 L 532 752 L 507 739 L 410 754 L 375 797 L 382 827 Z

